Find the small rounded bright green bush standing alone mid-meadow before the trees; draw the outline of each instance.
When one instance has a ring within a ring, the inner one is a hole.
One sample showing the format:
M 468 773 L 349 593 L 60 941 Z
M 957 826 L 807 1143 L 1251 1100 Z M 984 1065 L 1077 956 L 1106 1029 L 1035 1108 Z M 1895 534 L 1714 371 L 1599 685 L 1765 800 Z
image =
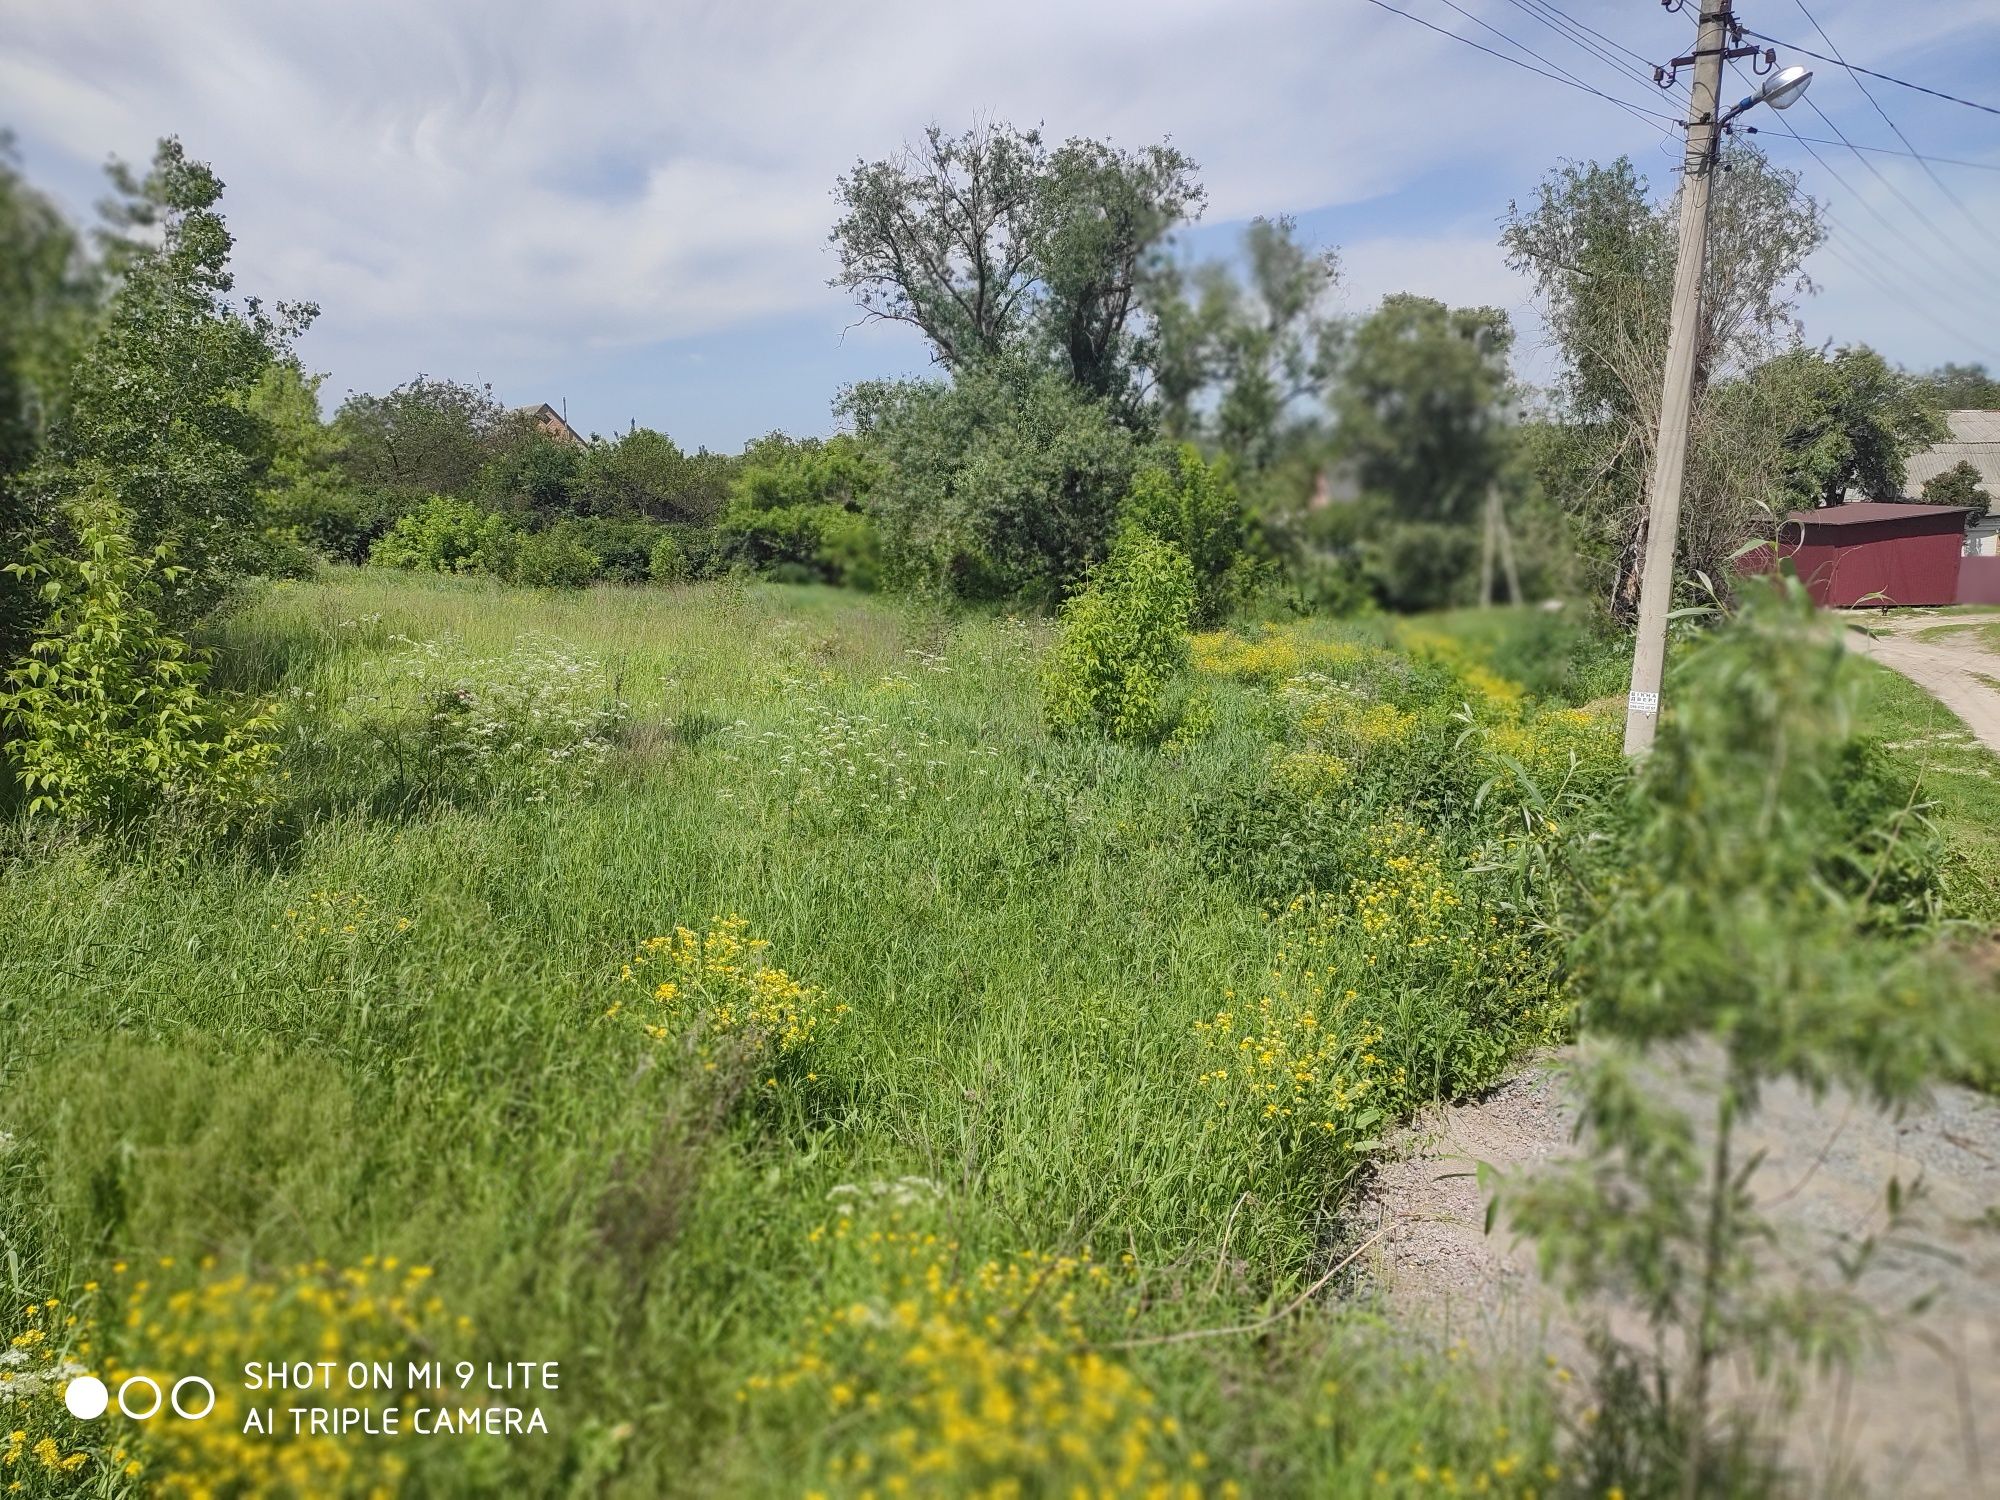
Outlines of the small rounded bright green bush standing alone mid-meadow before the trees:
M 1120 534 L 1090 584 L 1062 606 L 1042 664 L 1042 712 L 1056 734 L 1156 740 L 1168 688 L 1188 664 L 1194 566 L 1172 542 Z

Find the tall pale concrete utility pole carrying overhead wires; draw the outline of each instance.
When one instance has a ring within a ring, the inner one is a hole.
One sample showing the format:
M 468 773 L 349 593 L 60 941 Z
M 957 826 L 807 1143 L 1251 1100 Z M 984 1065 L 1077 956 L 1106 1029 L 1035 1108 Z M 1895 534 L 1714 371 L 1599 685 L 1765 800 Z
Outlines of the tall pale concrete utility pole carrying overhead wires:
M 1626 694 L 1626 754 L 1644 756 L 1660 728 L 1660 672 L 1666 664 L 1666 616 L 1674 608 L 1674 544 L 1680 536 L 1680 476 L 1688 464 L 1688 416 L 1694 408 L 1694 352 L 1702 338 L 1702 272 L 1708 268 L 1708 182 L 1716 166 L 1722 56 L 1730 44 L 1732 0 L 1698 0 L 1702 30 L 1694 42 L 1688 96 L 1688 156 L 1680 176 L 1680 254 L 1674 260 L 1674 316 L 1666 336 L 1660 388 L 1660 440 L 1646 490 L 1646 560 L 1638 584 L 1638 640 L 1632 692 Z M 1710 8 L 1712 6 L 1712 8 Z

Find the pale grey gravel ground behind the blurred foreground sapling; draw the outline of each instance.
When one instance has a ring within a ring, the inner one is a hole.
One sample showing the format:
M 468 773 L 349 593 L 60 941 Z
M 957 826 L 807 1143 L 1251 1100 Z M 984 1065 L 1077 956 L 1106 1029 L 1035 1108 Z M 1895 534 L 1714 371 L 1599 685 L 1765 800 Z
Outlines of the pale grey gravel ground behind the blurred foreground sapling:
M 1712 1066 L 1662 1068 L 1660 1088 L 1706 1118 Z M 1404 1156 L 1380 1170 L 1360 1208 L 1362 1232 L 1382 1230 L 1372 1276 L 1394 1312 L 1442 1320 L 1450 1336 L 1496 1352 L 1540 1344 L 1574 1368 L 1586 1366 L 1592 1322 L 1626 1338 L 1642 1332 L 1616 1306 L 1564 1306 L 1536 1276 L 1530 1246 L 1514 1244 L 1504 1224 L 1484 1232 L 1476 1164 L 1514 1174 L 1564 1156 L 1570 1122 L 1560 1072 L 1544 1062 L 1406 1132 Z M 1892 1176 L 1922 1180 L 1910 1234 L 1862 1286 L 1884 1312 L 1924 1292 L 1936 1298 L 1926 1312 L 1898 1314 L 1848 1390 L 1808 1386 L 1788 1448 L 1812 1488 L 1860 1478 L 1876 1494 L 2000 1494 L 2000 1104 L 1940 1088 L 1898 1122 L 1784 1084 L 1742 1136 L 1744 1160 L 1766 1152 L 1752 1188 L 1792 1266 L 1828 1266 L 1836 1246 L 1880 1230 Z

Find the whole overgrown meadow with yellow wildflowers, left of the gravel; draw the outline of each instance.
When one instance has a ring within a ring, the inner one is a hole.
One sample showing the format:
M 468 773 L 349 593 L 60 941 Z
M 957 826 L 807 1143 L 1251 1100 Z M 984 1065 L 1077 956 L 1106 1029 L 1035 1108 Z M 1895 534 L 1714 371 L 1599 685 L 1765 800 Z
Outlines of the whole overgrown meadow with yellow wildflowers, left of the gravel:
M 1466 874 L 1518 824 L 1474 814 L 1480 746 L 1602 766 L 1602 726 L 1378 634 L 1206 638 L 1148 750 L 1052 742 L 1016 622 L 278 588 L 218 642 L 288 704 L 270 846 L 0 884 L 10 1288 L 224 1398 L 136 1458 L 50 1418 L 16 1472 L 226 1482 L 266 1450 L 218 1376 L 308 1342 L 562 1386 L 550 1438 L 294 1442 L 306 1490 L 1546 1490 L 1532 1380 L 1322 1298 L 1206 1336 L 1334 1264 L 1396 1116 L 1560 1026 L 1506 872 Z

